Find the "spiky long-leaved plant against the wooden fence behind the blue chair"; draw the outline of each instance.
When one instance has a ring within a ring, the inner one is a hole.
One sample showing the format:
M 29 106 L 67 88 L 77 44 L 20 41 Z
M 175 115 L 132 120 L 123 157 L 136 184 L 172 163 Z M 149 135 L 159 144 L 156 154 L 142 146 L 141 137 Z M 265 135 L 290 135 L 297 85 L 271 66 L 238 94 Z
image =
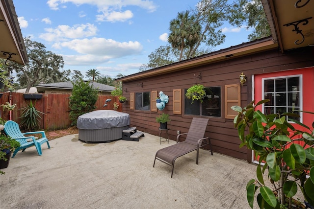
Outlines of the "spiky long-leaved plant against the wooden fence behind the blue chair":
M 40 114 L 44 114 L 40 112 L 39 110 L 36 110 L 35 108 L 36 101 L 32 102 L 27 102 L 27 106 L 21 108 L 20 110 L 22 111 L 21 117 L 22 122 L 21 125 L 24 126 L 26 130 L 36 130 L 39 128 L 38 123 L 40 122 L 41 116 Z

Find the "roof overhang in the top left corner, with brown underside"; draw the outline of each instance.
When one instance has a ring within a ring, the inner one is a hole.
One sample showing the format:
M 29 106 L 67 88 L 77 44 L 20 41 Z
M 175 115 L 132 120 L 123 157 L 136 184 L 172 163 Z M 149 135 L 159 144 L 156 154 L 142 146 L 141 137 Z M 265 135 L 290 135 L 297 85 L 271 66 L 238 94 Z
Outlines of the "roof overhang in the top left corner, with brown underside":
M 28 63 L 13 0 L 0 0 L 0 38 L 0 58 L 21 65 Z

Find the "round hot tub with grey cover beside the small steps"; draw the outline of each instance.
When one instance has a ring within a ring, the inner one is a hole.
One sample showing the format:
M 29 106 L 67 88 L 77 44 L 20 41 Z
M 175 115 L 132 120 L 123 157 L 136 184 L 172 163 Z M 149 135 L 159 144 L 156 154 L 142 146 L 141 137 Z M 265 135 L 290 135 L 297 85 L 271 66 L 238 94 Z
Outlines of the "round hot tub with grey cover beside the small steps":
M 114 110 L 96 110 L 78 117 L 78 139 L 98 143 L 122 139 L 122 131 L 129 128 L 130 116 Z

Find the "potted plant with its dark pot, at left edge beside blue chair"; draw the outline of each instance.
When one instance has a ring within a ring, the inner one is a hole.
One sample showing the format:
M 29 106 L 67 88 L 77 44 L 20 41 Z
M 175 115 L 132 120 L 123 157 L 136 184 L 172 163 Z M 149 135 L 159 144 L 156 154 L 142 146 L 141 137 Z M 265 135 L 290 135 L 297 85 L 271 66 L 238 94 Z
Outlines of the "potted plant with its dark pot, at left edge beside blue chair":
M 17 140 L 3 134 L 0 135 L 0 169 L 8 167 L 12 151 L 19 146 L 20 143 Z M 0 170 L 0 174 L 4 174 L 4 172 Z

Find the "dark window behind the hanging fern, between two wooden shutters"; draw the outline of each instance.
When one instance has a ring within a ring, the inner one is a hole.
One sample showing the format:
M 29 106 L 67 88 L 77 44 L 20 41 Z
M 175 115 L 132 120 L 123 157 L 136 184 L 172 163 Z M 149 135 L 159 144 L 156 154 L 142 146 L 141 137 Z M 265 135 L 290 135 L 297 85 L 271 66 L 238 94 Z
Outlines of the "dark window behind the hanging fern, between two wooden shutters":
M 187 89 L 184 90 L 184 94 Z M 221 87 L 206 87 L 203 102 L 185 98 L 184 114 L 196 116 L 221 117 Z

